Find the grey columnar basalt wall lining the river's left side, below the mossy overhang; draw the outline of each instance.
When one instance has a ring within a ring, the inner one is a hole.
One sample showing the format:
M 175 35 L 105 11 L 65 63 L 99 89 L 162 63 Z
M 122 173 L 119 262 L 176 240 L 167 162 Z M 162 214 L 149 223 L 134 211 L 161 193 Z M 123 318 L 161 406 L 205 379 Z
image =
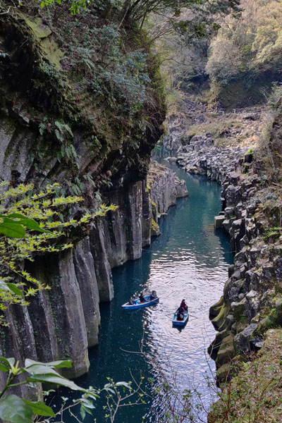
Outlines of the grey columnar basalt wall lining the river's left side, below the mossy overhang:
M 8 309 L 10 327 L 1 337 L 1 354 L 15 356 L 20 364 L 27 357 L 42 362 L 71 358 L 73 368 L 64 371 L 66 376 L 87 372 L 87 348 L 98 342 L 99 302 L 114 296 L 111 268 L 141 257 L 142 246 L 150 243 L 150 192 L 161 212 L 188 194 L 173 171 L 154 169 L 152 190 L 143 180 L 109 193 L 106 200 L 118 209 L 95 221 L 72 250 L 26 263 L 27 271 L 51 289 L 32 298 L 29 307 Z

